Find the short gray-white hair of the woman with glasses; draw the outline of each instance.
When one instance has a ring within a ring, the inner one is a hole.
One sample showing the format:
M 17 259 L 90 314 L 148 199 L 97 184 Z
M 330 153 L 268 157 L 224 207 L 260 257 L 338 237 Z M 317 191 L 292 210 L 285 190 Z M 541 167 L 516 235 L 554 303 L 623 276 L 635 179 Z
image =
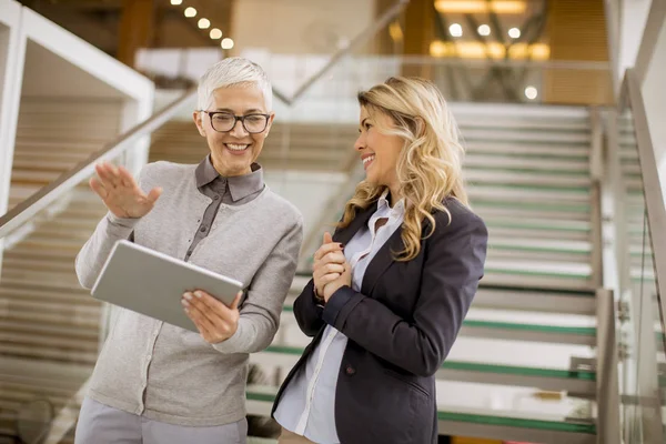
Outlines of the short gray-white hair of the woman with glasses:
M 268 111 L 273 110 L 273 89 L 264 70 L 256 63 L 240 57 L 220 60 L 199 80 L 199 110 L 206 110 L 213 100 L 213 91 L 239 83 L 254 83 L 263 92 Z

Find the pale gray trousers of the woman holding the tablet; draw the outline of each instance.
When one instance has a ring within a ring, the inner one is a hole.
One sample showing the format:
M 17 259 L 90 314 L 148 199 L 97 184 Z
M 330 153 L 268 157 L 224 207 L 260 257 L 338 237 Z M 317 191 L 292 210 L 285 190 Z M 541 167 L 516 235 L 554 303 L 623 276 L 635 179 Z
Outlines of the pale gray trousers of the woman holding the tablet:
M 74 444 L 245 444 L 245 418 L 215 427 L 160 423 L 83 400 Z

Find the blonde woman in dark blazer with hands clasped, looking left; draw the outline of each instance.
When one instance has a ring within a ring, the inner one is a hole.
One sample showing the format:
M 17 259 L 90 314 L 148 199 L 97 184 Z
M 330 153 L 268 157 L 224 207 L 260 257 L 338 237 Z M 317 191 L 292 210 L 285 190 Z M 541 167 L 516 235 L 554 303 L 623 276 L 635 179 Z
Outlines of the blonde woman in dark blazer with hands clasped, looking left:
M 483 275 L 487 231 L 437 88 L 391 78 L 359 102 L 366 179 L 294 304 L 314 339 L 273 407 L 280 444 L 435 443 L 435 372 Z

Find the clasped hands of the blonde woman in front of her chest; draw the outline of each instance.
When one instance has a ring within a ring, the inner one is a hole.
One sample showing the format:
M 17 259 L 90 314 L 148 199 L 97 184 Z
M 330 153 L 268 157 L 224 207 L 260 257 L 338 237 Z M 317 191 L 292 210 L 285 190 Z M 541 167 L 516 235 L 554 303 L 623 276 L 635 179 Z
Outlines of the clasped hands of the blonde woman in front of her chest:
M 322 246 L 314 253 L 312 279 L 316 295 L 329 302 L 341 286 L 352 285 L 352 268 L 343 253 L 343 245 L 333 242 L 330 233 L 324 233 Z

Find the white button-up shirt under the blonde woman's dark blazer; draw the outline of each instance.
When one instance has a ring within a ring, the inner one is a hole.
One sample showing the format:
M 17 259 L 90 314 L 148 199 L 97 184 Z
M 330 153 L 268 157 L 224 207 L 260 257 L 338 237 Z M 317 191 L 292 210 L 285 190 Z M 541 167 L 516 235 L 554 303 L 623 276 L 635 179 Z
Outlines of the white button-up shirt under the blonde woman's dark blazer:
M 380 198 L 367 226 L 359 230 L 344 248 L 355 291 L 361 291 L 367 265 L 404 220 L 404 201 L 391 208 L 386 195 L 384 192 Z M 380 219 L 387 221 L 376 228 Z M 274 413 L 280 425 L 319 444 L 340 443 L 335 430 L 335 387 L 346 343 L 344 334 L 326 325 L 304 371 L 294 376 L 282 394 Z

